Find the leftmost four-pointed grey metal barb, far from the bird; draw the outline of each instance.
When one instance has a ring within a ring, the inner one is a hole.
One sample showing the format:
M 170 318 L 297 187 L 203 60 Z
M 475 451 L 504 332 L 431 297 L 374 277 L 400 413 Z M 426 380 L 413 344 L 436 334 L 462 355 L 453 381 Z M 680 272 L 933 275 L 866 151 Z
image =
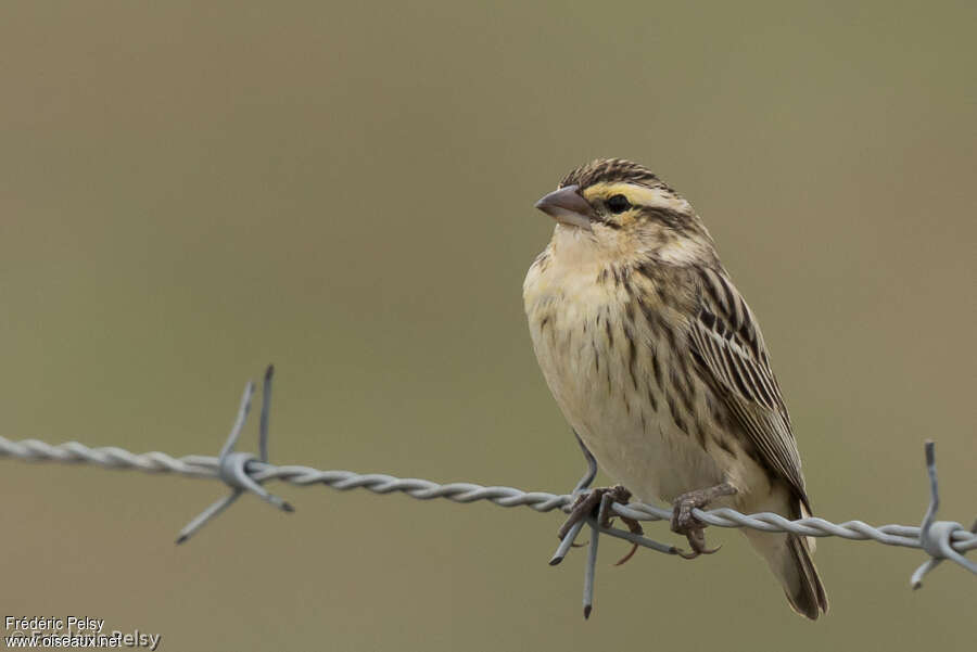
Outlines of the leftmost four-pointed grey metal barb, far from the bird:
M 255 481 L 250 475 L 256 469 L 253 464 L 256 459 L 261 459 L 264 464 L 268 463 L 268 416 L 271 409 L 271 376 L 274 374 L 275 367 L 269 365 L 265 371 L 265 380 L 262 384 L 262 414 L 258 420 L 258 450 L 261 457 L 255 458 L 250 452 L 234 451 L 241 431 L 244 430 L 244 422 L 248 421 L 248 414 L 251 412 L 251 401 L 254 398 L 254 382 L 248 381 L 248 385 L 244 387 L 244 395 L 241 396 L 241 405 L 238 407 L 238 414 L 234 418 L 234 425 L 231 427 L 230 435 L 228 435 L 227 442 L 224 443 L 224 447 L 220 449 L 220 456 L 217 458 L 217 477 L 230 487 L 231 493 L 211 504 L 199 516 L 190 521 L 180 530 L 176 540 L 177 545 L 185 542 L 217 514 L 233 504 L 244 491 L 251 491 L 265 502 L 284 512 L 295 511 L 290 503 L 278 496 L 269 494 L 261 485 L 261 481 Z

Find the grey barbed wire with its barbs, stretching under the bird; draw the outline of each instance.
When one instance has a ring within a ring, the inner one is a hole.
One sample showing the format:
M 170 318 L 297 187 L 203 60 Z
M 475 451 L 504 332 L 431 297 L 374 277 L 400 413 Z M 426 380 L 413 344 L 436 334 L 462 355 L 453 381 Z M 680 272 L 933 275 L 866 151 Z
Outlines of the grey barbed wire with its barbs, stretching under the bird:
M 429 480 L 413 477 L 395 477 L 383 473 L 355 473 L 352 471 L 323 471 L 304 465 L 276 465 L 268 461 L 268 417 L 270 412 L 271 378 L 274 368 L 268 367 L 264 378 L 262 413 L 258 431 L 259 455 L 238 452 L 234 447 L 243 430 L 255 385 L 249 382 L 241 398 L 233 427 L 220 453 L 214 456 L 188 455 L 175 458 L 165 452 L 151 451 L 134 453 L 116 446 L 91 448 L 78 442 L 51 445 L 39 439 L 10 440 L 0 436 L 0 456 L 31 462 L 86 463 L 104 469 L 136 470 L 147 473 L 173 473 L 195 478 L 220 480 L 231 493 L 207 507 L 193 519 L 177 537 L 182 544 L 198 532 L 205 523 L 233 503 L 245 491 L 255 494 L 274 507 L 291 512 L 293 508 L 281 498 L 270 494 L 262 485 L 268 481 L 280 481 L 301 487 L 325 485 L 347 491 L 363 488 L 375 494 L 402 493 L 418 500 L 443 498 L 460 503 L 488 501 L 499 507 L 528 507 L 537 512 L 560 510 L 570 511 L 578 497 L 586 493 L 596 475 L 596 461 L 581 443 L 587 460 L 587 471 L 571 494 L 550 494 L 547 491 L 523 491 L 515 487 L 483 486 L 473 483 L 440 484 Z M 929 559 L 921 565 L 911 577 L 911 586 L 922 586 L 923 576 L 944 560 L 977 575 L 977 563 L 967 560 L 963 554 L 977 549 L 977 521 L 969 530 L 963 525 L 950 521 L 937 521 L 939 509 L 939 485 L 936 472 L 936 459 L 932 442 L 925 444 L 926 468 L 929 476 L 930 503 L 921 526 L 910 525 L 868 525 L 863 521 L 846 521 L 833 523 L 824 519 L 808 517 L 790 521 L 772 512 L 743 514 L 729 508 L 713 510 L 693 510 L 693 515 L 706 525 L 716 527 L 747 527 L 769 533 L 791 533 L 811 537 L 839 537 L 848 540 L 872 540 L 887 546 L 918 548 Z M 640 534 L 605 527 L 606 513 L 634 521 L 669 521 L 672 510 L 661 507 L 629 502 L 621 504 L 605 496 L 599 503 L 599 513 L 578 521 L 566 528 L 556 553 L 550 558 L 550 565 L 559 564 L 567 555 L 584 525 L 591 527 L 591 541 L 584 570 L 584 615 L 588 616 L 593 605 L 594 576 L 597 559 L 597 542 L 601 534 L 618 537 L 632 544 L 662 552 L 678 554 L 674 546 L 661 544 Z

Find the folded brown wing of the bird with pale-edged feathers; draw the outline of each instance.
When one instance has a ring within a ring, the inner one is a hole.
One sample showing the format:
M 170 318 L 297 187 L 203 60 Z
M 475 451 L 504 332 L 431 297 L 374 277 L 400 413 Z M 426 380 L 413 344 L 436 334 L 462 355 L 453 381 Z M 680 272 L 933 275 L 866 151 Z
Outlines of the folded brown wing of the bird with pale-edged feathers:
M 763 460 L 791 485 L 810 511 L 790 417 L 770 368 L 760 327 L 722 270 L 702 271 L 699 286 L 690 342 L 700 371 Z

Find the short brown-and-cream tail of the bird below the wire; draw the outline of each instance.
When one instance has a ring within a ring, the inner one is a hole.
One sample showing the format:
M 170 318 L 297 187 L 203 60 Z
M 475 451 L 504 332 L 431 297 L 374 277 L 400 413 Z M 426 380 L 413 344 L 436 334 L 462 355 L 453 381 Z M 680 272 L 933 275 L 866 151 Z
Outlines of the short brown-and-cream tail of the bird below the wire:
M 776 575 L 790 608 L 802 616 L 816 621 L 828 611 L 827 595 L 817 574 L 814 560 L 814 541 L 810 537 L 784 534 L 765 534 L 745 530 L 750 544 L 766 560 Z

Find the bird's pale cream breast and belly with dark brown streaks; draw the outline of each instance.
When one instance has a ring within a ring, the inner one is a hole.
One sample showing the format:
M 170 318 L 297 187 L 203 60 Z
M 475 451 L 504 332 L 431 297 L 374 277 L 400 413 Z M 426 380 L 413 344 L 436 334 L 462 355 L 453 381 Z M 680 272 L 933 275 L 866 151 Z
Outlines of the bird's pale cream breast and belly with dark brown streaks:
M 751 471 L 649 283 L 544 253 L 523 299 L 546 383 L 601 469 L 639 500 L 672 500 Z

